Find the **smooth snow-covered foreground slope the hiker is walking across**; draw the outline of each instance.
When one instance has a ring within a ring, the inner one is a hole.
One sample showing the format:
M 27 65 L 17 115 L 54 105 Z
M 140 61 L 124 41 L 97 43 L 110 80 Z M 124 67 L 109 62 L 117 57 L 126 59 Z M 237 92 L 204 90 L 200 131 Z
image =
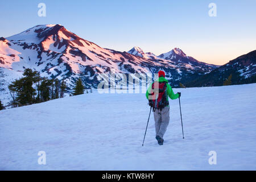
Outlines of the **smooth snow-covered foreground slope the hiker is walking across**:
M 144 94 L 83 94 L 1 110 L 1 170 L 255 170 L 256 84 L 174 89 L 164 145 Z M 46 165 L 38 152 L 46 152 Z M 217 164 L 209 165 L 209 151 Z

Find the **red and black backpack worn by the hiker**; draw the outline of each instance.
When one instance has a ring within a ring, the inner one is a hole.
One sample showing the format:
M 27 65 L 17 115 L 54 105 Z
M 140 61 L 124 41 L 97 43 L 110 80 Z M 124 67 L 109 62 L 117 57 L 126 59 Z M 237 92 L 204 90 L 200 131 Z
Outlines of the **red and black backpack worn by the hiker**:
M 151 92 L 148 94 L 148 105 L 160 111 L 167 105 L 167 83 L 166 82 L 153 82 Z

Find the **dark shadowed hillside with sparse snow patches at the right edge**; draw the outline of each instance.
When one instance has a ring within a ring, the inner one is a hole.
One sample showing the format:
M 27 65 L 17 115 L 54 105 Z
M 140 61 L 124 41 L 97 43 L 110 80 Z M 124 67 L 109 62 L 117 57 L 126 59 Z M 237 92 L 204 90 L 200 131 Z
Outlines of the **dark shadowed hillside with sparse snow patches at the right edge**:
M 232 75 L 231 84 L 256 82 L 256 50 L 239 56 L 212 72 L 187 82 L 186 86 L 220 86 Z

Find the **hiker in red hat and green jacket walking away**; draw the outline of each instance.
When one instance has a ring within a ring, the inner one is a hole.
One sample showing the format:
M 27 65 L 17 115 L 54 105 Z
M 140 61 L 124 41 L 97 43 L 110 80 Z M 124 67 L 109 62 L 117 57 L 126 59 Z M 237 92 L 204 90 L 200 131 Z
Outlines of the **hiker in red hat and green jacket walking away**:
M 153 108 L 155 119 L 155 133 L 158 144 L 162 145 L 164 142 L 163 136 L 166 133 L 167 126 L 170 120 L 170 106 L 168 97 L 171 100 L 175 100 L 181 96 L 178 92 L 174 94 L 171 86 L 168 84 L 168 80 L 165 78 L 166 73 L 164 71 L 158 72 L 158 80 L 152 82 L 147 89 L 146 97 L 149 105 Z

